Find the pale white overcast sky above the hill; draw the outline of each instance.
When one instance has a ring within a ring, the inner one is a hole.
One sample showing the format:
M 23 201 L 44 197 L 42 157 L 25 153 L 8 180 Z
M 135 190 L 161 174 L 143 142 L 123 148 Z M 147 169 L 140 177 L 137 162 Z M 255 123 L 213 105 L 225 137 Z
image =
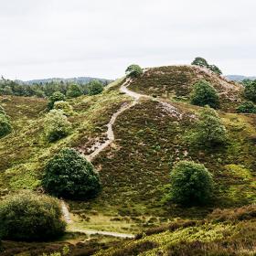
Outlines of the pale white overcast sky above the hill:
M 0 75 L 115 79 L 208 59 L 256 75 L 255 0 L 0 0 Z

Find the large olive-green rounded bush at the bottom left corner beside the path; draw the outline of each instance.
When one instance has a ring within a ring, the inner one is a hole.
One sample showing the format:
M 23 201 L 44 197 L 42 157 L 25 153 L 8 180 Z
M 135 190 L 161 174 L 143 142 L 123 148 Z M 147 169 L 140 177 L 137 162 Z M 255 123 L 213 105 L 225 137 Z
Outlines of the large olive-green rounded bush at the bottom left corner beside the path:
M 64 234 L 59 201 L 23 192 L 0 203 L 0 236 L 8 240 L 51 240 Z

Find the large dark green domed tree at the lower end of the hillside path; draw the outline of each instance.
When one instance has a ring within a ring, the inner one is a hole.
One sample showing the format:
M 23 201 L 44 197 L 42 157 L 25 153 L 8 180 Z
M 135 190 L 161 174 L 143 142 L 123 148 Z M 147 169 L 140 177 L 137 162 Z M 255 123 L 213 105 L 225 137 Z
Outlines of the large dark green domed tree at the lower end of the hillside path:
M 74 199 L 94 197 L 101 187 L 91 163 L 70 148 L 62 149 L 48 161 L 42 184 L 52 195 Z

